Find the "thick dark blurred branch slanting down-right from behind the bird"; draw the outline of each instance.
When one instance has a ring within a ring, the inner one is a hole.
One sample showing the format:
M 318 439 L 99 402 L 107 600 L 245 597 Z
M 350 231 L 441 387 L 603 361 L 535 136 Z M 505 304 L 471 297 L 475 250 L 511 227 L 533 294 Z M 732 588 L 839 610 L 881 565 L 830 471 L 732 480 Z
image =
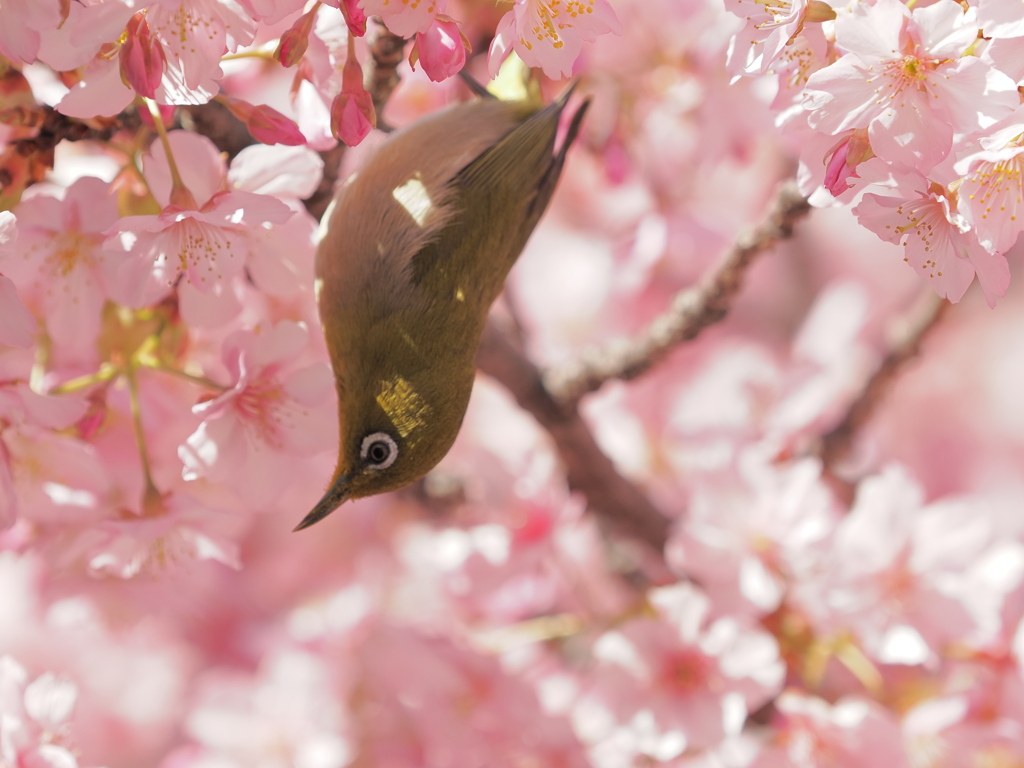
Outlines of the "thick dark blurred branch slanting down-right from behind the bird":
M 509 338 L 488 324 L 476 365 L 495 378 L 551 435 L 569 487 L 581 493 L 598 519 L 660 553 L 671 522 L 632 482 L 623 477 L 594 440 L 574 403 L 558 402 L 538 368 Z

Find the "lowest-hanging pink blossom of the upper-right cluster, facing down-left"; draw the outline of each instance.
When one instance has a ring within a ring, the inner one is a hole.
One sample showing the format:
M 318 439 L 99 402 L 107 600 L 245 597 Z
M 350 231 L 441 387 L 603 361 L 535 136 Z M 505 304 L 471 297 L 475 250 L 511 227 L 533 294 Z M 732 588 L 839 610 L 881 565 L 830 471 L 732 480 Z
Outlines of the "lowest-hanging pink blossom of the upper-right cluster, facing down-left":
M 864 195 L 854 209 L 861 224 L 883 240 L 903 245 L 904 261 L 927 276 L 939 296 L 959 301 L 977 273 L 985 300 L 994 306 L 1010 285 L 1010 267 L 1006 257 L 978 242 L 977 232 L 957 211 L 964 187 L 957 198 L 912 171 L 895 175 L 895 182 L 880 188 L 882 194 Z

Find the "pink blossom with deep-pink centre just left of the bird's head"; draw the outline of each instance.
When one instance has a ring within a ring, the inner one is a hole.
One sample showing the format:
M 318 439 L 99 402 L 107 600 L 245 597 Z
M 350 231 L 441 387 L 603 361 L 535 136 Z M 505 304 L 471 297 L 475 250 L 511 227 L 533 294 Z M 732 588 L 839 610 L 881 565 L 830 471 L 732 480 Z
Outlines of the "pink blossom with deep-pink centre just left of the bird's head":
M 282 323 L 224 342 L 224 364 L 234 383 L 193 411 L 203 417 L 178 449 L 183 477 L 230 483 L 249 505 L 273 502 L 294 464 L 330 445 L 329 420 L 318 413 L 332 392 L 323 362 L 296 368 L 307 331 Z

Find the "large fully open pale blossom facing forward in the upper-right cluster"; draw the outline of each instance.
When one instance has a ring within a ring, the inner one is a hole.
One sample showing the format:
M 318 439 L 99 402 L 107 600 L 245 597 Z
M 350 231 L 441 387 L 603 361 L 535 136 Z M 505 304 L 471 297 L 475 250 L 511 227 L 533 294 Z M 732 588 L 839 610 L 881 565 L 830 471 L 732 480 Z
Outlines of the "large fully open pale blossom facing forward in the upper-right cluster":
M 874 154 L 927 172 L 949 155 L 954 132 L 978 130 L 1017 103 L 1016 84 L 977 56 L 975 10 L 953 0 L 907 9 L 858 3 L 836 19 L 846 54 L 807 83 L 812 128 L 867 128 Z

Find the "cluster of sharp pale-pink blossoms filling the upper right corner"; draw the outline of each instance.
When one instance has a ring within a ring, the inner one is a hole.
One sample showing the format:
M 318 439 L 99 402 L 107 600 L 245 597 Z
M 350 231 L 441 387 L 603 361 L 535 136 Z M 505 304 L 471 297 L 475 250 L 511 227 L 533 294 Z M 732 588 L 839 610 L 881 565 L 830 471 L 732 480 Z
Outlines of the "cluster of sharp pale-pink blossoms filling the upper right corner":
M 994 305 L 1024 228 L 1013 4 L 726 5 L 744 19 L 730 68 L 778 78 L 774 108 L 804 144 L 806 193 L 820 205 L 856 198 L 860 223 L 902 245 L 939 296 L 958 301 L 977 275 Z

